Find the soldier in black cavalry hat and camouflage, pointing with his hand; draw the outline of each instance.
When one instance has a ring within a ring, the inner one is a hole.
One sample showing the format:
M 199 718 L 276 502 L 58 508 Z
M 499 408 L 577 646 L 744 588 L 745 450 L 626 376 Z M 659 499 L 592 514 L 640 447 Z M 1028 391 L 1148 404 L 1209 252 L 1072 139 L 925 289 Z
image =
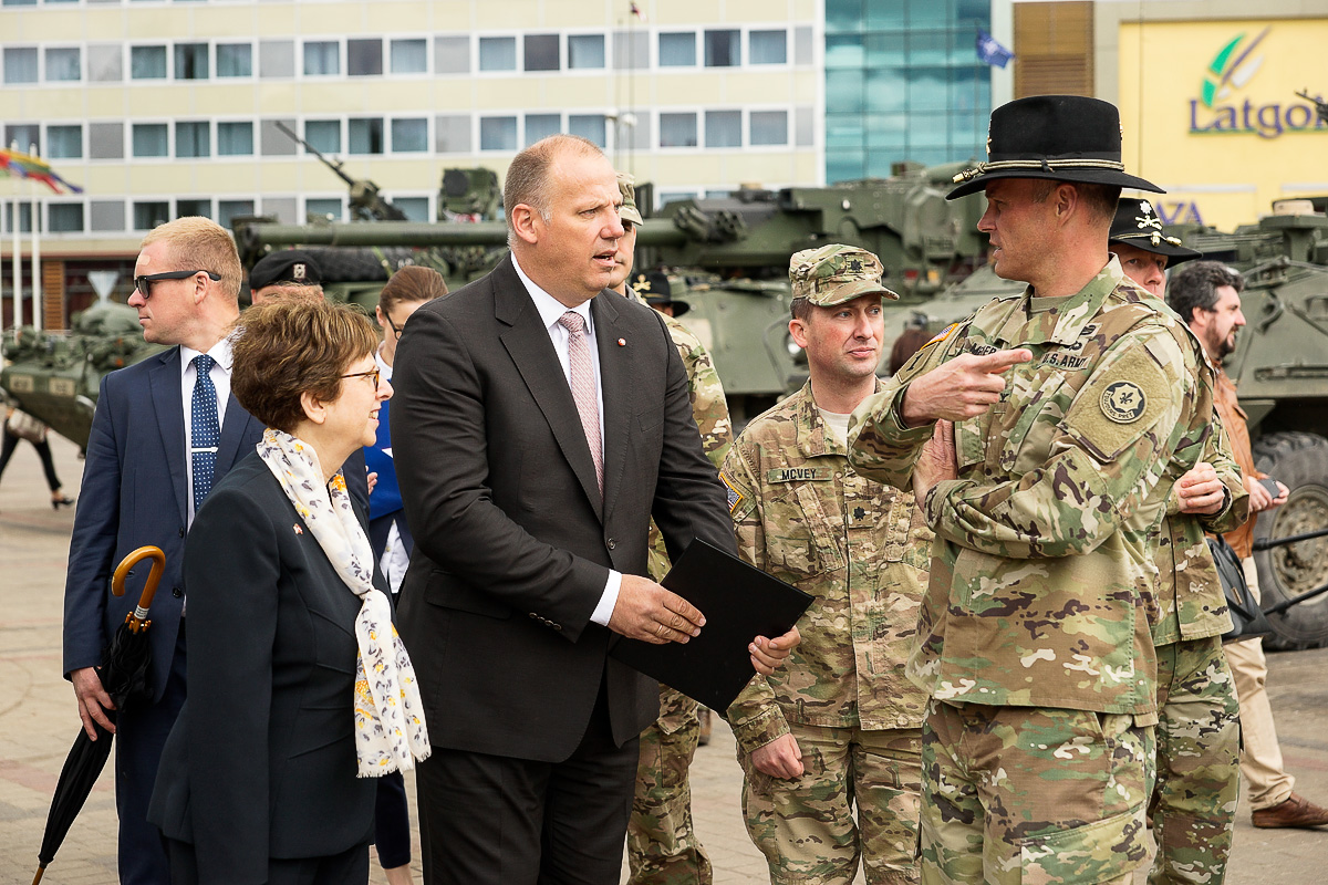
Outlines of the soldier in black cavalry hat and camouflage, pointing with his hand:
M 1009 102 L 988 151 L 950 196 L 985 188 L 995 271 L 1029 287 L 926 345 L 855 413 L 850 454 L 936 532 L 908 662 L 931 694 L 922 877 L 1129 882 L 1154 775 L 1149 537 L 1211 389 L 1108 260 L 1120 187 L 1158 190 L 1123 172 L 1116 107 Z

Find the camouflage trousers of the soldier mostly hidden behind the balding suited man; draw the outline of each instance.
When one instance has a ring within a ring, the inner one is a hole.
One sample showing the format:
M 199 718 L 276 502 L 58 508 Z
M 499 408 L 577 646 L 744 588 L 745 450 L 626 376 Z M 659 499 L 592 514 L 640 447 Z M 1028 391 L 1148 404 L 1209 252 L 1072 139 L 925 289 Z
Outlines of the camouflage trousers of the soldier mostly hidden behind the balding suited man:
M 700 738 L 696 706 L 660 686 L 660 718 L 641 732 L 636 795 L 627 824 L 629 885 L 710 885 L 710 858 L 692 828 L 688 782 Z

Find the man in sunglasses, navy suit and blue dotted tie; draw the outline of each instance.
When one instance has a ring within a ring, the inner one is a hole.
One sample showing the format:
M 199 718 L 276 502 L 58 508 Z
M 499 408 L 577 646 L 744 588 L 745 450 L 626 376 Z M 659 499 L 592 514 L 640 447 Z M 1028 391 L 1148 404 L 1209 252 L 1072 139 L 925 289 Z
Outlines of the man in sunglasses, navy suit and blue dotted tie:
M 143 338 L 177 346 L 102 379 L 69 545 L 64 667 L 84 728 L 94 739 L 93 722 L 116 732 L 120 877 L 137 885 L 170 881 L 161 833 L 147 823 L 147 800 L 166 734 L 185 702 L 185 533 L 211 482 L 254 451 L 263 427 L 230 395 L 227 333 L 239 316 L 240 288 L 230 234 L 203 218 L 162 224 L 143 239 L 134 275 L 129 304 L 138 309 Z M 202 365 L 211 365 L 199 385 L 195 358 L 202 357 Z M 208 410 L 215 423 L 207 421 Z M 153 695 L 108 714 L 113 706 L 96 665 L 137 604 L 146 569 L 126 581 L 121 598 L 109 593 L 110 573 L 143 544 L 166 553 L 147 632 Z

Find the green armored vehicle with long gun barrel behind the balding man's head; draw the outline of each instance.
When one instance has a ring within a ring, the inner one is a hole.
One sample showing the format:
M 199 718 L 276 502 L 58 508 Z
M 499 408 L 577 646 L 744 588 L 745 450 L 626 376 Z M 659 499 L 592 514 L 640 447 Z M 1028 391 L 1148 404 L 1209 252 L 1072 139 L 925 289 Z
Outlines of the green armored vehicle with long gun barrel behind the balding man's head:
M 880 256 L 887 284 L 910 304 L 972 271 L 985 244 L 976 232 L 981 199 L 944 199 L 961 166 L 900 163 L 892 178 L 834 187 L 745 186 L 729 196 L 669 203 L 653 218 L 643 195 L 636 267 L 668 269 L 673 297 L 691 305 L 684 322 L 710 349 L 738 423 L 805 377 L 788 334 L 794 252 L 831 241 L 869 248 Z M 452 175 L 453 199 L 463 199 L 475 182 L 462 182 L 456 171 L 445 172 L 444 191 Z M 331 280 L 324 289 L 365 305 L 376 303 L 388 271 L 406 263 L 434 267 L 450 288 L 475 279 L 506 253 L 506 239 L 498 220 L 236 224 L 246 265 L 274 248 L 299 245 L 323 264 L 324 280 Z

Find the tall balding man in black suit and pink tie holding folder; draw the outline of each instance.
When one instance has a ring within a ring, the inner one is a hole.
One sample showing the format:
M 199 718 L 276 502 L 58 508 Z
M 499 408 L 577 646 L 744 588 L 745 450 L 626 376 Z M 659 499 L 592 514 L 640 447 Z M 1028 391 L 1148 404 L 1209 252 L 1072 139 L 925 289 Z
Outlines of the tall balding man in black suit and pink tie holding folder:
M 672 557 L 693 537 L 734 551 L 733 529 L 668 330 L 595 297 L 623 236 L 612 166 L 547 138 L 513 161 L 503 204 L 511 256 L 412 316 L 393 377 L 416 536 L 400 622 L 433 743 L 425 880 L 618 882 L 659 689 L 608 649 L 704 624 L 639 577 L 649 517 Z M 752 649 L 768 669 L 794 642 Z

